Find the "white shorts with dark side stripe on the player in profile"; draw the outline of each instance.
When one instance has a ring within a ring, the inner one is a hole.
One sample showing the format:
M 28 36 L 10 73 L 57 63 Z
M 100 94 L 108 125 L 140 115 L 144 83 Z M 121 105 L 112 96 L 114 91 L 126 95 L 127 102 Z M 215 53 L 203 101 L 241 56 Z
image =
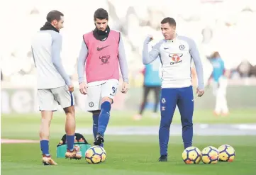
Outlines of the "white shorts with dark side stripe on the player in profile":
M 62 108 L 74 106 L 74 96 L 67 86 L 53 89 L 38 89 L 38 102 L 40 111 L 57 111 Z

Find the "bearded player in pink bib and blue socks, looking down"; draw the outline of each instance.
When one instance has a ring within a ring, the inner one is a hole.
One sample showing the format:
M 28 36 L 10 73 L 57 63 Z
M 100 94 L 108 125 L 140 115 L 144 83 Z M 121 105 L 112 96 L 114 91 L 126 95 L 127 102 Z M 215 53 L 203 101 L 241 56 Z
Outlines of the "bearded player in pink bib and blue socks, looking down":
M 108 27 L 108 12 L 97 9 L 94 22 L 96 28 L 83 35 L 77 71 L 79 91 L 87 94 L 87 111 L 93 116 L 94 145 L 102 146 L 111 104 L 118 89 L 119 67 L 123 77 L 121 92 L 126 94 L 128 66 L 121 33 Z

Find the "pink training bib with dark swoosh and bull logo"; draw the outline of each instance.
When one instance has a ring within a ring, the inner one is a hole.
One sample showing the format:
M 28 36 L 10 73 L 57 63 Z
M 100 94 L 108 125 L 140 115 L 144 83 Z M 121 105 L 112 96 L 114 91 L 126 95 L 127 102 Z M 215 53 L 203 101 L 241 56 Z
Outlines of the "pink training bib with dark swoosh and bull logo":
M 117 79 L 119 80 L 118 47 L 120 33 L 110 30 L 104 41 L 96 40 L 92 31 L 84 34 L 88 48 L 85 74 L 87 82 Z

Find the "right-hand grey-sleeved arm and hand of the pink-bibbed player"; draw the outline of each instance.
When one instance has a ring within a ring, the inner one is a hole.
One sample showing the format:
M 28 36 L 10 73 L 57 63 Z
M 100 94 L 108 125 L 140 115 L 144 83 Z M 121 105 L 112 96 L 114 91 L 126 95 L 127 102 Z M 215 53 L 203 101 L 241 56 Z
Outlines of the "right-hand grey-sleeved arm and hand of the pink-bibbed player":
M 128 91 L 128 64 L 126 60 L 126 52 L 124 50 L 123 39 L 120 35 L 119 47 L 118 47 L 118 59 L 119 66 L 123 77 L 123 86 L 121 92 L 126 93 Z

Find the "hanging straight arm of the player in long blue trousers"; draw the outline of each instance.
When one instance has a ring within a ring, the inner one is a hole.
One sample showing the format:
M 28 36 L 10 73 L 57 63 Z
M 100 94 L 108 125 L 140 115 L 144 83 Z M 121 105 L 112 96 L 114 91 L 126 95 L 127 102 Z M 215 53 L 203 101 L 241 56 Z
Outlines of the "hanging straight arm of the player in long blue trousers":
M 192 59 L 194 60 L 194 64 L 196 67 L 196 74 L 197 74 L 197 81 L 198 81 L 198 91 L 199 96 L 202 96 L 204 94 L 204 71 L 203 71 L 203 65 L 201 62 L 201 58 L 199 56 L 199 51 L 197 50 L 196 43 L 194 40 L 190 40 L 190 55 Z M 201 91 L 201 92 L 200 92 Z

